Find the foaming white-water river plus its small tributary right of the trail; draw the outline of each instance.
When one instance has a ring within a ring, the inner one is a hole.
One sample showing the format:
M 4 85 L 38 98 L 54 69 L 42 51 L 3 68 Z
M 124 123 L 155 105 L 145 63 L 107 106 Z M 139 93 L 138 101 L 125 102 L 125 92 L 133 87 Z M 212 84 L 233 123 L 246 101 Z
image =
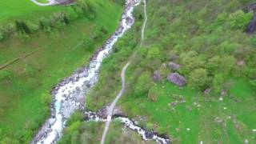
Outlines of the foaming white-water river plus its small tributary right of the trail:
M 74 113 L 74 110 L 84 110 L 84 96 L 86 93 L 98 82 L 98 71 L 102 65 L 102 61 L 106 58 L 114 43 L 121 38 L 127 30 L 134 24 L 133 10 L 138 6 L 140 0 L 127 0 L 125 10 L 122 14 L 122 19 L 118 30 L 106 41 L 91 58 L 89 66 L 77 70 L 69 78 L 65 78 L 58 86 L 52 90 L 53 102 L 51 103 L 51 116 L 43 124 L 38 134 L 34 137 L 31 143 L 56 143 L 62 136 L 62 130 L 65 127 L 67 118 Z M 135 126 L 134 122 L 128 118 L 120 117 L 125 126 L 131 130 L 135 130 L 142 135 L 144 140 L 146 138 L 146 130 Z M 160 138 L 157 134 L 152 133 L 152 138 L 160 143 L 169 142 L 168 139 Z

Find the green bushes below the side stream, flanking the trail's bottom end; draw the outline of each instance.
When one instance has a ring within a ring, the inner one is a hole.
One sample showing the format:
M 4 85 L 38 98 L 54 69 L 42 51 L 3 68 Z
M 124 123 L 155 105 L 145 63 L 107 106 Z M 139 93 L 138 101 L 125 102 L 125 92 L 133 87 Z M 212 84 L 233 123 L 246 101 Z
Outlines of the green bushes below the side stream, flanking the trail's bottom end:
M 105 122 L 84 122 L 84 116 L 79 113 L 72 115 L 67 122 L 67 128 L 65 134 L 59 144 L 91 144 L 100 143 L 102 139 L 102 133 L 104 130 Z M 150 144 L 155 142 L 143 142 L 142 138 L 134 131 L 124 128 L 122 123 L 115 119 L 111 122 L 110 130 L 108 131 L 106 142 L 111 144 Z

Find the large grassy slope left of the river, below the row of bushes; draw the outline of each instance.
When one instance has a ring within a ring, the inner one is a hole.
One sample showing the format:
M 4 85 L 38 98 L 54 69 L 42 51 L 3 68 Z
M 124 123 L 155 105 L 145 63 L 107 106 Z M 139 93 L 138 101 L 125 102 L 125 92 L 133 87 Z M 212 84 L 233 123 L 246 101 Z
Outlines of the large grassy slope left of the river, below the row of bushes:
M 15 35 L 0 42 L 0 65 L 20 58 L 0 70 L 2 142 L 29 142 L 50 114 L 52 87 L 86 65 L 94 51 L 114 33 L 122 6 L 113 1 L 94 2 L 94 19 L 79 18 L 64 29 L 38 31 L 30 34 L 28 42 Z M 32 51 L 30 56 L 22 57 Z

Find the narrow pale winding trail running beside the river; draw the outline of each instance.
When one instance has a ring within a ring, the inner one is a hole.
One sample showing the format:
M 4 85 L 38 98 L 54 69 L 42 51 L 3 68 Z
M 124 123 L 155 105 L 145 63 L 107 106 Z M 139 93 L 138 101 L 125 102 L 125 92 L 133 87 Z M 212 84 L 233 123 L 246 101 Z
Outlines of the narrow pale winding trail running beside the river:
M 145 15 L 145 20 L 143 22 L 143 26 L 142 26 L 142 41 L 140 44 L 140 47 L 142 47 L 143 45 L 143 41 L 144 41 L 144 33 L 145 33 L 145 27 L 146 27 L 146 23 L 147 23 L 147 14 L 146 14 L 146 0 L 143 0 L 144 2 L 144 15 Z M 135 53 L 137 54 L 137 53 Z M 135 55 L 134 54 L 134 55 Z M 109 130 L 110 127 L 110 122 L 112 119 L 112 114 L 113 114 L 113 110 L 114 107 L 116 105 L 116 103 L 118 102 L 119 98 L 121 98 L 122 94 L 125 91 L 125 86 L 126 86 L 126 81 L 125 81 L 125 75 L 126 75 L 126 69 L 127 67 L 130 65 L 130 62 L 132 61 L 132 59 L 134 58 L 134 55 L 131 57 L 130 61 L 126 63 L 126 66 L 124 66 L 122 68 L 122 74 L 121 74 L 121 78 L 122 78 L 122 90 L 119 91 L 117 97 L 114 99 L 114 101 L 111 103 L 110 107 L 107 110 L 107 119 L 106 119 L 106 124 L 105 124 L 105 128 L 104 128 L 104 132 L 102 134 L 102 140 L 101 140 L 101 144 L 105 143 L 105 139 L 106 139 L 106 134 Z

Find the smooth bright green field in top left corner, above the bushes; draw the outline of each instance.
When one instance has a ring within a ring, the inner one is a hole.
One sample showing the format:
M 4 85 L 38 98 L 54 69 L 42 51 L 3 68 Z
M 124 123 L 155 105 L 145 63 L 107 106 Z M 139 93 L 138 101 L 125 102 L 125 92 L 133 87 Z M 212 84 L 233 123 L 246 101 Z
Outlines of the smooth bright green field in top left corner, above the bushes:
M 0 2 L 0 22 L 14 19 L 38 18 L 53 11 L 65 9 L 62 6 L 37 6 L 30 0 L 8 0 Z

